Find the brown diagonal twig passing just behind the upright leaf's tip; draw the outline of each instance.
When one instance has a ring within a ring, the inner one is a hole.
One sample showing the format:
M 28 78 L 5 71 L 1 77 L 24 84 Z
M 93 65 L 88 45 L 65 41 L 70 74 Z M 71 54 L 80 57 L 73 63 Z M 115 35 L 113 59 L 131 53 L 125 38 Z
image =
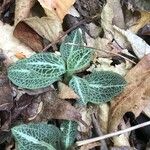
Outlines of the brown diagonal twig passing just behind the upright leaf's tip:
M 52 43 L 50 43 L 49 45 L 47 45 L 42 51 L 44 52 L 44 51 L 48 50 L 50 47 L 52 47 L 53 45 L 55 45 L 56 43 L 58 43 L 65 35 L 67 35 L 71 31 L 73 31 L 74 29 L 76 29 L 80 25 L 84 24 L 85 21 L 86 21 L 86 19 L 83 19 L 80 22 L 78 22 L 77 24 L 75 24 L 74 26 L 72 26 L 70 29 L 68 29 L 66 32 L 63 32 L 55 41 L 53 41 Z

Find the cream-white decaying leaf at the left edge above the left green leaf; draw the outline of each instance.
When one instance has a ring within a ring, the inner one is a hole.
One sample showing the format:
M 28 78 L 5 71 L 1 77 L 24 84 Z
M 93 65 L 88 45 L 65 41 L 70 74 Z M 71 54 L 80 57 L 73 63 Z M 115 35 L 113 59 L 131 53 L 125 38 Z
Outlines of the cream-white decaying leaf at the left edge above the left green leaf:
M 23 53 L 26 57 L 35 54 L 29 47 L 22 44 L 18 39 L 13 36 L 14 27 L 0 22 L 0 48 L 6 56 L 6 64 L 11 64 L 18 60 L 15 56 L 16 53 Z M 9 44 L 8 44 L 9 41 Z

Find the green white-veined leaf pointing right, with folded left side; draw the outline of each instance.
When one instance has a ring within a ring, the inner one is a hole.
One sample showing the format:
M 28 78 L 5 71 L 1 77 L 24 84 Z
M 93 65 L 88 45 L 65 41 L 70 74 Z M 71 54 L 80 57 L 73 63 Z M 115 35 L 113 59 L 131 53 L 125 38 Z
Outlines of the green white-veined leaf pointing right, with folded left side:
M 80 102 L 99 104 L 110 101 L 117 96 L 126 85 L 122 76 L 110 71 L 93 72 L 84 78 L 74 76 L 70 87 L 80 96 Z

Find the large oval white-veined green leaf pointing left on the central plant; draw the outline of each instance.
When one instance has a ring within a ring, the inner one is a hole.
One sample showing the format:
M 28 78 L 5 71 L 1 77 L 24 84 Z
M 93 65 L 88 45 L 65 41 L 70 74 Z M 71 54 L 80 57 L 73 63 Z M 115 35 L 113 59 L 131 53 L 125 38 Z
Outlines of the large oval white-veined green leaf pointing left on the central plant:
M 8 77 L 21 88 L 38 89 L 59 80 L 65 72 L 65 63 L 60 56 L 39 53 L 10 66 Z

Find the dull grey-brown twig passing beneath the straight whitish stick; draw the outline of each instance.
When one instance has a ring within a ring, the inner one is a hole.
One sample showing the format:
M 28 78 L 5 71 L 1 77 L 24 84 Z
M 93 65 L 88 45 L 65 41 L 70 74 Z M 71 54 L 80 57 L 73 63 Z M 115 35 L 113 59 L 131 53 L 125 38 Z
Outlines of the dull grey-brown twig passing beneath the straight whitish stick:
M 92 114 L 92 121 L 93 121 L 93 125 L 94 125 L 94 127 L 95 127 L 95 130 L 96 130 L 97 134 L 98 134 L 99 136 L 103 136 L 103 133 L 102 133 L 102 131 L 101 131 L 99 125 L 98 125 L 98 122 L 97 122 L 97 120 L 96 120 L 94 114 Z M 100 147 L 100 149 L 101 149 L 101 150 L 108 150 L 108 147 L 107 147 L 107 144 L 106 144 L 106 141 L 105 141 L 105 140 L 102 140 L 102 141 L 101 141 L 101 147 Z

